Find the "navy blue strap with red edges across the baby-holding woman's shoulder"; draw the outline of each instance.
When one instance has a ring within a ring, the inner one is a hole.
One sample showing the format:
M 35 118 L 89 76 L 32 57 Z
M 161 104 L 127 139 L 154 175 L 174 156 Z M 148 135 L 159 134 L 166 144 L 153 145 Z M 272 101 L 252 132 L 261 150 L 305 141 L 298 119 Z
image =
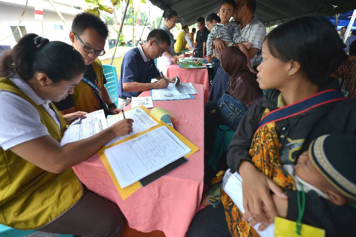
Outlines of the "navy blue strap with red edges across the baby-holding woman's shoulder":
M 297 114 L 301 114 L 305 111 L 308 111 L 309 109 L 318 107 L 322 104 L 339 101 L 341 99 L 346 99 L 346 98 L 336 90 L 325 90 L 316 93 L 315 95 L 310 96 L 309 98 L 306 98 L 300 102 L 290 104 L 289 106 L 284 106 L 282 108 L 276 109 L 268 113 L 258 124 L 258 129 L 260 129 L 262 126 L 268 123 L 293 117 Z

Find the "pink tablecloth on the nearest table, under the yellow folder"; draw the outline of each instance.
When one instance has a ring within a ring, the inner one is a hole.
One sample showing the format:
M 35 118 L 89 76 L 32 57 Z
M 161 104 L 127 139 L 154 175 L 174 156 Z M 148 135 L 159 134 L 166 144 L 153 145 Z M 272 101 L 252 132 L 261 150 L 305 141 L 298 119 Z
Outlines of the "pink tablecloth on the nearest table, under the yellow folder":
M 167 237 L 184 237 L 199 208 L 204 179 L 204 87 L 198 84 L 194 87 L 198 92 L 195 99 L 153 101 L 155 107 L 163 107 L 176 116 L 179 121 L 173 122 L 174 128 L 200 148 L 188 162 L 125 200 L 97 154 L 73 167 L 90 190 L 116 203 L 129 226 L 138 231 L 161 230 Z M 149 96 L 149 91 L 140 96 Z

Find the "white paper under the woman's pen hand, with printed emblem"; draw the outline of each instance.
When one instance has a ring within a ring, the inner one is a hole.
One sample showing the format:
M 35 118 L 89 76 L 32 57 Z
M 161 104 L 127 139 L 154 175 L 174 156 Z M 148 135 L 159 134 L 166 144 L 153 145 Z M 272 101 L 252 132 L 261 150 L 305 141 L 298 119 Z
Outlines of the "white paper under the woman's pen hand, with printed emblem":
M 108 143 L 106 143 L 105 146 L 109 146 L 117 141 L 128 138 L 129 136 L 141 133 L 142 131 L 152 128 L 153 126 L 156 126 L 158 124 L 141 108 L 135 108 L 126 111 L 125 117 L 133 119 L 132 130 L 130 131 L 130 133 L 122 136 L 117 136 L 116 138 L 111 139 Z M 110 127 L 112 124 L 117 123 L 122 119 L 124 119 L 124 116 L 122 116 L 122 113 L 120 113 L 114 117 L 107 119 L 106 121 L 108 122 L 108 126 Z

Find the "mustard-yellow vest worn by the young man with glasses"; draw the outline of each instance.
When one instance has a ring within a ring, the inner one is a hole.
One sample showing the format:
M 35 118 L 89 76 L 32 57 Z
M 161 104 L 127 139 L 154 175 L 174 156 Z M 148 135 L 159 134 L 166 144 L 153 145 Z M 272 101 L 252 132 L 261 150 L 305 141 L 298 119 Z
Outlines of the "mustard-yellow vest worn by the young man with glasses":
M 96 85 L 99 90 L 103 88 L 103 65 L 101 65 L 100 60 L 97 58 L 91 63 L 94 68 L 96 78 L 98 79 Z M 91 91 L 91 87 L 84 81 L 80 81 L 77 86 L 74 87 L 74 92 L 70 95 L 72 98 L 75 111 L 93 112 L 100 108 L 100 105 L 96 101 L 96 98 Z

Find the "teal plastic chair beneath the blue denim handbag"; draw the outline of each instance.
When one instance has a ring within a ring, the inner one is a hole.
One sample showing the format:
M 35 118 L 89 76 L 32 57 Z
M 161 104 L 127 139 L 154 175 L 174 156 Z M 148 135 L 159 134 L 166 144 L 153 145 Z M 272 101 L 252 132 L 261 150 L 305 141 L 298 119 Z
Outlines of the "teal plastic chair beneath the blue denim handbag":
M 221 130 L 229 129 L 229 127 L 225 125 L 220 125 L 219 128 Z M 235 133 L 235 131 L 221 131 L 221 130 L 216 129 L 215 131 L 213 150 L 211 151 L 211 154 L 208 159 L 209 165 L 213 165 L 214 170 L 216 170 L 216 167 L 218 166 L 223 151 L 225 150 L 226 154 L 229 152 L 229 145 L 232 136 L 234 136 Z

